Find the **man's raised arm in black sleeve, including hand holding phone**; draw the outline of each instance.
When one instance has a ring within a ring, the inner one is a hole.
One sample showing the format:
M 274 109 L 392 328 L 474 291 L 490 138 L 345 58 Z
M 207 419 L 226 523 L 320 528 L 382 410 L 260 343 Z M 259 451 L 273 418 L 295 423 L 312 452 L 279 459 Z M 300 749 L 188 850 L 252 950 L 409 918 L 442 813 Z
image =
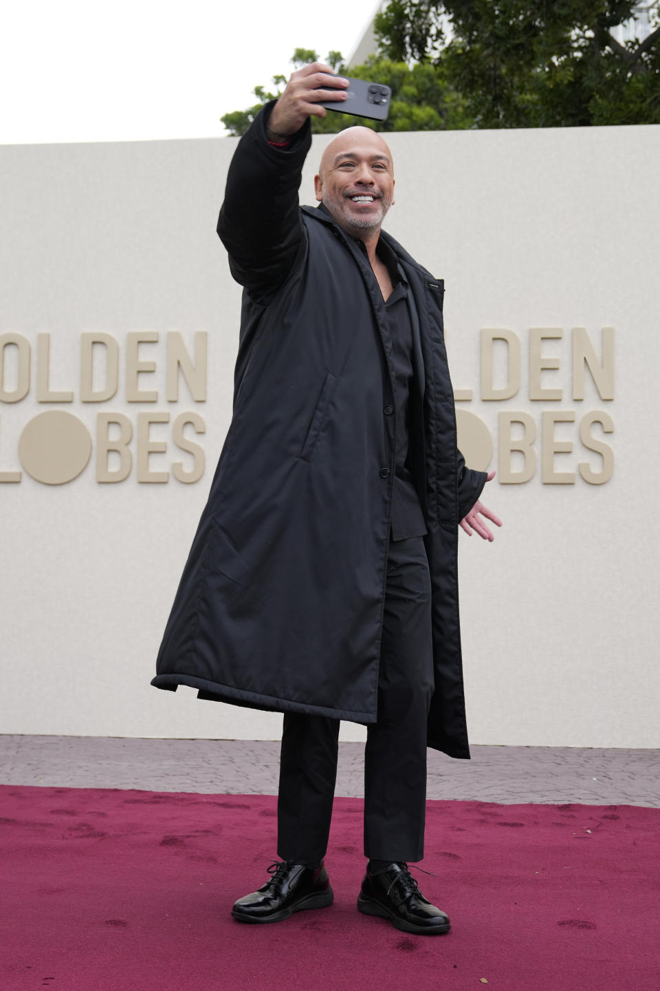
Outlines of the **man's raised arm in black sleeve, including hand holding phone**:
M 309 118 L 325 117 L 321 100 L 345 100 L 348 82 L 330 65 L 312 62 L 294 72 L 282 95 L 267 104 L 238 143 L 230 165 L 218 234 L 236 281 L 259 296 L 288 275 L 303 238 L 298 188 L 312 143 Z

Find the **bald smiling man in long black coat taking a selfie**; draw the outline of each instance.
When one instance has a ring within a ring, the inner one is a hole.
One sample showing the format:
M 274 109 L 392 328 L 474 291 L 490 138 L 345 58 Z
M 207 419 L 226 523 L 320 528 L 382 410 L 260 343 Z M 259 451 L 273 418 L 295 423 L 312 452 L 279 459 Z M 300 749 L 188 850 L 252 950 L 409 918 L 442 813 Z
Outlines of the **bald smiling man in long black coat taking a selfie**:
M 294 72 L 230 167 L 218 231 L 243 286 L 234 417 L 153 684 L 284 713 L 282 859 L 237 920 L 331 904 L 343 718 L 367 725 L 358 908 L 437 935 L 449 920 L 408 863 L 424 856 L 426 745 L 469 757 L 458 525 L 493 539 L 484 517 L 500 521 L 479 501 L 486 475 L 456 449 L 442 283 L 381 232 L 385 142 L 340 133 L 315 179 L 320 206 L 298 205 L 309 118 L 345 99 L 329 72 Z

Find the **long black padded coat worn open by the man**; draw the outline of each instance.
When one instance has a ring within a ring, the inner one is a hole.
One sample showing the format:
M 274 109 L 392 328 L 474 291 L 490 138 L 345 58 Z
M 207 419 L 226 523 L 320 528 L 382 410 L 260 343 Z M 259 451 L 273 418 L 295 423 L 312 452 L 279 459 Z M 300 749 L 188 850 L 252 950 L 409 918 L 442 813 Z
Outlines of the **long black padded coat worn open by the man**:
M 383 410 L 394 379 L 368 260 L 324 209 L 298 206 L 310 145 L 308 124 L 288 148 L 270 146 L 262 114 L 230 167 L 218 230 L 244 287 L 234 416 L 152 684 L 369 723 L 394 483 L 395 417 Z M 382 237 L 411 285 L 424 368 L 411 443 L 432 583 L 428 745 L 469 757 L 456 551 L 485 475 L 456 448 L 443 283 Z

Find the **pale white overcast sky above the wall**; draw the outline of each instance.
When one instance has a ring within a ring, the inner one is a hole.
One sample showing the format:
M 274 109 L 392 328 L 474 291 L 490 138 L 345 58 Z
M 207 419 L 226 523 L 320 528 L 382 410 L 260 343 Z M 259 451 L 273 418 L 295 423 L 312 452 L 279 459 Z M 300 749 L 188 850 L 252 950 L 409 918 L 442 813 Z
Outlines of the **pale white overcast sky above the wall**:
M 350 55 L 375 0 L 11 0 L 0 144 L 211 138 L 291 71 L 295 48 Z

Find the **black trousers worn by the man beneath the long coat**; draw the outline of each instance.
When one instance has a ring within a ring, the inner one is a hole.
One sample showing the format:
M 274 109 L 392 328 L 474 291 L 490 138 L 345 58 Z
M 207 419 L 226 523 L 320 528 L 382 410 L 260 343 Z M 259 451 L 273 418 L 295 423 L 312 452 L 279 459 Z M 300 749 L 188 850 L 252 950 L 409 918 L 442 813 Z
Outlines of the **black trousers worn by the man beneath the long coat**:
M 433 693 L 430 579 L 424 539 L 392 541 L 378 677 L 378 717 L 364 751 L 364 853 L 422 860 L 426 721 Z M 285 713 L 277 853 L 313 863 L 328 849 L 339 720 Z

